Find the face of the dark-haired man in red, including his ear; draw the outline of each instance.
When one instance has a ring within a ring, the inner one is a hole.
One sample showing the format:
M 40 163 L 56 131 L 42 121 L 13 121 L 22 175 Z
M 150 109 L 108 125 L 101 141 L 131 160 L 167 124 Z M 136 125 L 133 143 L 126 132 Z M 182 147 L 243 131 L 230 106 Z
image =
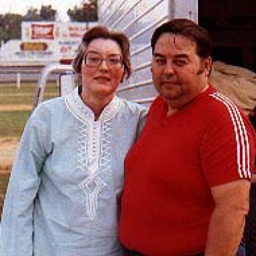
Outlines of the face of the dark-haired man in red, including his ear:
M 180 109 L 207 87 L 211 59 L 200 59 L 187 37 L 163 33 L 151 61 L 153 83 L 167 104 Z

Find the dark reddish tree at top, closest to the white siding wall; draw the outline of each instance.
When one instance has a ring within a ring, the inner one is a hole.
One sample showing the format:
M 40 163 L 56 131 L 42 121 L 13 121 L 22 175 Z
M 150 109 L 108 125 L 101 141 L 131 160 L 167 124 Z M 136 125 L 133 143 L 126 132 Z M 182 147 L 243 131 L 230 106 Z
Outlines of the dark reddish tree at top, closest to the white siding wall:
M 97 21 L 97 0 L 90 0 L 89 3 L 81 2 L 81 7 L 75 5 L 67 11 L 71 21 Z

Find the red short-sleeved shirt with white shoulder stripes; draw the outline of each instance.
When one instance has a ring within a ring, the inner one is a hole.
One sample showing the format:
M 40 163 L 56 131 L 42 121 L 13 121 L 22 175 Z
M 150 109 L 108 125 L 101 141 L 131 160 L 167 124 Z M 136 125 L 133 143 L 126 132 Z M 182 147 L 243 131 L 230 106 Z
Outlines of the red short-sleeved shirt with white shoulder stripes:
M 125 159 L 123 245 L 150 256 L 205 251 L 210 188 L 250 178 L 253 136 L 243 113 L 213 87 L 170 117 L 158 97 Z

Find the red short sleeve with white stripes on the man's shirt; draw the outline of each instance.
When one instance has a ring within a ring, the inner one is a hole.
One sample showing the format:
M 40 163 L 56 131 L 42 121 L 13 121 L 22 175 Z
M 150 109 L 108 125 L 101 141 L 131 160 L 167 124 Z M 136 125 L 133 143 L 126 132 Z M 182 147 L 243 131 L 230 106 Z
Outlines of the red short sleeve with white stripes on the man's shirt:
M 227 97 L 214 93 L 201 141 L 203 172 L 209 186 L 251 179 L 255 141 L 247 117 Z

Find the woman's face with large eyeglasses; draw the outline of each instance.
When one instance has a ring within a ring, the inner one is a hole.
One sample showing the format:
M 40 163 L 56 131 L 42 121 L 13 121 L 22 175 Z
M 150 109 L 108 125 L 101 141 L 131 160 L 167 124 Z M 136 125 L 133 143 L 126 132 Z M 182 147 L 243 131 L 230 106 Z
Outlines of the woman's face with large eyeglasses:
M 112 39 L 93 39 L 81 65 L 82 97 L 112 98 L 123 77 L 121 48 Z

